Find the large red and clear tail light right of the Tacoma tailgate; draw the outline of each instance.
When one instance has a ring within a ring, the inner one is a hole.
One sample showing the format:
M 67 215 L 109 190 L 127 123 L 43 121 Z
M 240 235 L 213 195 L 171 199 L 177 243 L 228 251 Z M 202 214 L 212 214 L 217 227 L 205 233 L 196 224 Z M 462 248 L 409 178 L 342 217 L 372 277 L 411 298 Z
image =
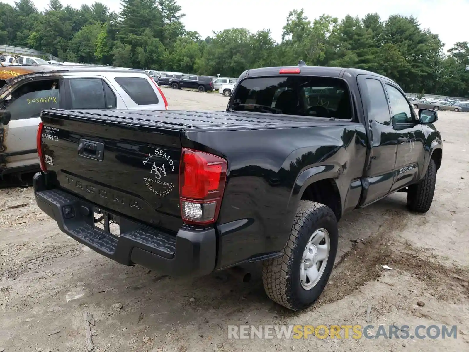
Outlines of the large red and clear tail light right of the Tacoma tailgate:
M 227 179 L 227 161 L 219 156 L 182 148 L 179 197 L 182 220 L 203 225 L 216 222 Z

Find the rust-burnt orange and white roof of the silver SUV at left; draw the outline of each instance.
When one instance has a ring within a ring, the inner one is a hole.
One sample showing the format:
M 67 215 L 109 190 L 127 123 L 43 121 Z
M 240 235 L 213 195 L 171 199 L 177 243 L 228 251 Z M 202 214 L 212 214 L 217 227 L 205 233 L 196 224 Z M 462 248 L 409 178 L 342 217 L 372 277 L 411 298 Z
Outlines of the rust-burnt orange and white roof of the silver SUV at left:
M 109 66 L 91 65 L 15 65 L 0 66 L 0 79 L 10 79 L 33 73 L 59 73 L 59 72 L 129 72 L 132 69 L 122 69 Z

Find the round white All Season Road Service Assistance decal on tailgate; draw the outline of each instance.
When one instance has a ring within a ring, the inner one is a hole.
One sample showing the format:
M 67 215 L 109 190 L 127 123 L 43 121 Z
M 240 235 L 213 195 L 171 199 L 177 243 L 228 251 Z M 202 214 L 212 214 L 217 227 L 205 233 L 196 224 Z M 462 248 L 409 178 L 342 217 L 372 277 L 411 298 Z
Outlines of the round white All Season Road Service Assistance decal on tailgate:
M 149 191 L 165 197 L 174 190 L 175 185 L 167 181 L 167 177 L 176 171 L 176 166 L 168 153 L 155 149 L 155 153 L 145 157 L 143 163 L 145 168 L 150 169 L 150 175 L 143 178 Z

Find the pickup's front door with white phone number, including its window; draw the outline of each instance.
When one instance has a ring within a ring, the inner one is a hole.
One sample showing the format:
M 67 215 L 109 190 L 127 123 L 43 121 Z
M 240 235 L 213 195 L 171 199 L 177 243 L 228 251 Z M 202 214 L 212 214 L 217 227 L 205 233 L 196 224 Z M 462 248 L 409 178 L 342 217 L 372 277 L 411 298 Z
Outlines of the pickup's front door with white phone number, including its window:
M 416 182 L 424 163 L 425 136 L 414 109 L 404 93 L 391 82 L 385 82 L 391 107 L 391 122 L 397 132 L 397 158 L 391 191 Z

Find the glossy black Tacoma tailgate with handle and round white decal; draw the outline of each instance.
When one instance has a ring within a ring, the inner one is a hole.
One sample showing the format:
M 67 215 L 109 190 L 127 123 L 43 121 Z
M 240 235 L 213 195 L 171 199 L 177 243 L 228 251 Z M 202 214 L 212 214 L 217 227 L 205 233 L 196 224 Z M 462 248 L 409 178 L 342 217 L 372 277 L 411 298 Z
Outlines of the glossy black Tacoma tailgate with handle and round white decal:
M 180 229 L 181 126 L 137 126 L 70 110 L 45 110 L 41 119 L 45 163 L 56 187 L 100 209 Z

